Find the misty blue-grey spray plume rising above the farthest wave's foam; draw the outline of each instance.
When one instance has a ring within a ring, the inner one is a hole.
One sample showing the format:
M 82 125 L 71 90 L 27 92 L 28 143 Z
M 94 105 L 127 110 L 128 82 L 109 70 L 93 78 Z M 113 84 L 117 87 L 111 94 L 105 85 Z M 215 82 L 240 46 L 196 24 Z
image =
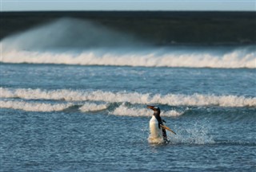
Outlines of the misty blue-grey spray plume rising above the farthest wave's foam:
M 46 51 L 115 47 L 138 45 L 139 41 L 128 33 L 109 29 L 97 22 L 60 18 L 6 37 L 1 43 L 3 52 L 10 52 L 12 49 Z

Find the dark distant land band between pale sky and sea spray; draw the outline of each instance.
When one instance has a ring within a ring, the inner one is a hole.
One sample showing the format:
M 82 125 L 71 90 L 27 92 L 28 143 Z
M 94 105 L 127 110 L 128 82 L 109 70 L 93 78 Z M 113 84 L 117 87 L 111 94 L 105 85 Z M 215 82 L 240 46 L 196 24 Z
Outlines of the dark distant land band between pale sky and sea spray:
M 1 12 L 0 39 L 59 18 L 78 18 L 131 33 L 151 45 L 255 45 L 251 11 Z

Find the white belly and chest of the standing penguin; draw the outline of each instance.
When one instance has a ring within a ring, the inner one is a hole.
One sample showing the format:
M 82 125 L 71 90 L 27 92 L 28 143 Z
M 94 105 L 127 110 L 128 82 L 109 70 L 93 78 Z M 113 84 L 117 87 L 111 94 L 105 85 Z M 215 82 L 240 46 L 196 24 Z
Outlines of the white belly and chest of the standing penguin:
M 162 128 L 158 127 L 158 119 L 152 116 L 150 119 L 150 143 L 163 143 L 164 139 L 162 137 Z

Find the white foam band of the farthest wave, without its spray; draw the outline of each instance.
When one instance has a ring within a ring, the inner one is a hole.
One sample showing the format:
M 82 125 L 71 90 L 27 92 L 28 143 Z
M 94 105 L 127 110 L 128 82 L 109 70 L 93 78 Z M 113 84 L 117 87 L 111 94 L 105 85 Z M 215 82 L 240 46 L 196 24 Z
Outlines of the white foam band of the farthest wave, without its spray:
M 190 68 L 256 68 L 256 51 L 234 50 L 231 53 L 174 53 L 158 50 L 148 53 L 97 53 L 94 50 L 82 53 L 50 53 L 29 51 L 3 51 L 1 62 L 66 65 L 118 65 L 144 67 L 190 67 Z

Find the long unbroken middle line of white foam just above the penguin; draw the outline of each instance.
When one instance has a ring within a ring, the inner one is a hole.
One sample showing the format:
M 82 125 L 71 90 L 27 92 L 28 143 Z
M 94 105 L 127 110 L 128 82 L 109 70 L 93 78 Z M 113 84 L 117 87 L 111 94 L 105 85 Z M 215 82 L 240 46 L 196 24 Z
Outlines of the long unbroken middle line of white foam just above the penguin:
M 0 88 L 1 98 L 22 98 L 26 100 L 66 100 L 66 101 L 103 101 L 106 103 L 129 102 L 130 104 L 167 104 L 170 106 L 220 106 L 255 107 L 256 97 L 181 95 L 181 94 L 142 94 L 138 92 L 86 92 L 82 90 L 41 90 L 25 88 Z

